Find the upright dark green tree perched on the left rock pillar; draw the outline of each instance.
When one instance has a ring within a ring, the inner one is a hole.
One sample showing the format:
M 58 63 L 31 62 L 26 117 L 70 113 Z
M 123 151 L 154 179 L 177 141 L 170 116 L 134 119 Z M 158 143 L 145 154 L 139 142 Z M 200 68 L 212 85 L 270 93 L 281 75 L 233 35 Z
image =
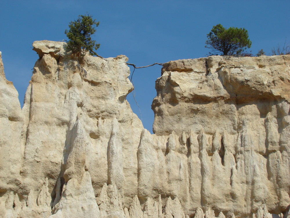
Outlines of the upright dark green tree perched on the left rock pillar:
M 84 56 L 86 51 L 90 55 L 97 55 L 94 50 L 97 50 L 100 44 L 96 44 L 90 36 L 96 32 L 95 27 L 99 26 L 99 22 L 92 17 L 88 14 L 79 15 L 77 20 L 71 21 L 68 25 L 70 29 L 64 32 L 69 39 L 67 49 L 77 56 Z

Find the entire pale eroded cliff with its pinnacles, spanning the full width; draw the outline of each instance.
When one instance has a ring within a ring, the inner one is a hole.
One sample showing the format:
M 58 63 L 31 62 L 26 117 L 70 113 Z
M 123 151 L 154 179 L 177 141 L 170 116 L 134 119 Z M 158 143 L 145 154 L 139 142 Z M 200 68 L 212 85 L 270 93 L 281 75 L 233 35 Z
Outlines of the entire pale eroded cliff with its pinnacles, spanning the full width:
M 125 56 L 33 47 L 22 110 L 0 62 L 0 216 L 289 217 L 290 56 L 166 63 L 151 135 Z

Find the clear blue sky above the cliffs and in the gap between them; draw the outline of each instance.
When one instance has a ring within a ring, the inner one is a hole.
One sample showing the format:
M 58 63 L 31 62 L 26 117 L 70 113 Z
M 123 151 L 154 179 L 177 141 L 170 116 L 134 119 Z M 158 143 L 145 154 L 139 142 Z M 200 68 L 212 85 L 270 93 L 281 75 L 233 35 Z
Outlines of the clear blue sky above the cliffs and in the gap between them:
M 67 39 L 64 30 L 78 15 L 89 14 L 100 22 L 93 39 L 101 44 L 97 53 L 105 58 L 123 54 L 129 63 L 205 57 L 206 34 L 216 24 L 246 28 L 256 54 L 267 54 L 278 43 L 290 43 L 290 1 L 6 1 L 0 2 L 0 51 L 6 78 L 23 98 L 38 55 L 36 40 Z M 161 66 L 136 69 L 133 76 L 136 100 L 143 125 L 152 133 L 151 103 Z M 133 68 L 131 68 L 131 72 Z M 140 117 L 136 103 L 128 101 Z

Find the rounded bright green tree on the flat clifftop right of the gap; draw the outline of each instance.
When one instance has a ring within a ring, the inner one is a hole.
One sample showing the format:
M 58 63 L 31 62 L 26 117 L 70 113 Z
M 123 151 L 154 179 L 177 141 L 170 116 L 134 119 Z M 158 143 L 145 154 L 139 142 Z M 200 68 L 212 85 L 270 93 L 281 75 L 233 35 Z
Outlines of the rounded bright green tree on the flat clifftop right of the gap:
M 234 55 L 244 49 L 250 48 L 252 42 L 249 40 L 248 31 L 245 28 L 224 28 L 222 24 L 213 26 L 207 34 L 206 48 L 212 49 L 216 54 Z M 212 54 L 212 53 L 210 53 Z

